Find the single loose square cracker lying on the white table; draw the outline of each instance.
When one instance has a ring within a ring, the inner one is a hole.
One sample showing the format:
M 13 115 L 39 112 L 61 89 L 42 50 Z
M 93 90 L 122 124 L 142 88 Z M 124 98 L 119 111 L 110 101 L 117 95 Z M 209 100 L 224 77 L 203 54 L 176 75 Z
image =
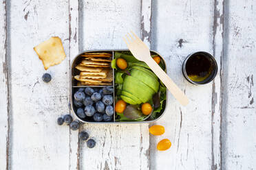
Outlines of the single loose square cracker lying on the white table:
M 49 69 L 50 66 L 60 64 L 66 58 L 61 38 L 57 36 L 41 42 L 34 47 L 34 51 L 42 60 L 45 70 Z

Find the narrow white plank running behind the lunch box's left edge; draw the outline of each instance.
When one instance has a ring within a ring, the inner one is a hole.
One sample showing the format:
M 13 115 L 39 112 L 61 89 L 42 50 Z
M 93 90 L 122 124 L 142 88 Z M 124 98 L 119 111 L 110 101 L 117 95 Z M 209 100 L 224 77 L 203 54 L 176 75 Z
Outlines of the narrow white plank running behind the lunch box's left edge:
M 78 8 L 79 3 L 77 1 L 69 0 L 69 65 L 71 69 L 71 62 L 75 56 L 79 53 L 79 43 L 78 43 Z M 70 71 L 71 73 L 71 71 Z M 72 75 L 70 75 L 72 76 Z M 70 87 L 71 88 L 71 87 Z M 75 115 L 72 115 L 75 117 Z M 79 130 L 70 130 L 70 167 L 69 169 L 79 169 Z

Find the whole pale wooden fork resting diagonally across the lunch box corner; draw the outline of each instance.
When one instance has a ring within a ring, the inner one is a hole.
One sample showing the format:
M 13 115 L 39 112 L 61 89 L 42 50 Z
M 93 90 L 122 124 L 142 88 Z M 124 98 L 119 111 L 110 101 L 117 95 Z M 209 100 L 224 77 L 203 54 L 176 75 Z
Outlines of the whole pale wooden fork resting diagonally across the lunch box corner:
M 131 36 L 133 34 L 133 36 Z M 131 32 L 131 34 L 127 34 L 126 38 L 124 38 L 125 43 L 127 44 L 127 47 L 131 51 L 131 53 L 134 55 L 135 58 L 138 60 L 141 60 L 143 62 L 146 62 L 146 64 L 150 67 L 150 69 L 155 73 L 158 78 L 162 81 L 162 83 L 167 86 L 168 90 L 170 90 L 171 94 L 177 99 L 180 104 L 183 106 L 186 106 L 189 104 L 189 99 L 186 97 L 186 95 L 178 88 L 178 86 L 171 80 L 171 78 L 165 73 L 161 67 L 151 58 L 149 47 L 145 45 L 145 43 L 134 34 L 134 32 Z

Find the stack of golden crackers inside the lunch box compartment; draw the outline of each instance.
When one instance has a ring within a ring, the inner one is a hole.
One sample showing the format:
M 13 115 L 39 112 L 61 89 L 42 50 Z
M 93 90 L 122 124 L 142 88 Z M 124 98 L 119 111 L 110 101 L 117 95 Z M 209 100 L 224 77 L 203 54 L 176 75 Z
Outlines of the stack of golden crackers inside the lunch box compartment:
M 84 60 L 76 66 L 80 71 L 74 78 L 77 86 L 112 85 L 111 53 L 83 53 Z

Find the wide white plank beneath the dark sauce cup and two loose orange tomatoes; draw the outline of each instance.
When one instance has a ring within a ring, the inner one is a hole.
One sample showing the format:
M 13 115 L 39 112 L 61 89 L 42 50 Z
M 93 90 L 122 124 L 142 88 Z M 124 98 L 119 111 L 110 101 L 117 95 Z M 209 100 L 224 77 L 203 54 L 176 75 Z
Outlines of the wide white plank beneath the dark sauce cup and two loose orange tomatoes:
M 182 62 L 195 51 L 213 53 L 213 6 L 213 1 L 202 0 L 153 1 L 151 45 L 162 54 L 170 77 L 190 103 L 182 107 L 169 94 L 165 115 L 156 122 L 164 125 L 166 132 L 151 137 L 151 169 L 211 169 L 213 84 L 187 82 Z M 163 138 L 170 139 L 171 149 L 157 151 L 156 145 Z

